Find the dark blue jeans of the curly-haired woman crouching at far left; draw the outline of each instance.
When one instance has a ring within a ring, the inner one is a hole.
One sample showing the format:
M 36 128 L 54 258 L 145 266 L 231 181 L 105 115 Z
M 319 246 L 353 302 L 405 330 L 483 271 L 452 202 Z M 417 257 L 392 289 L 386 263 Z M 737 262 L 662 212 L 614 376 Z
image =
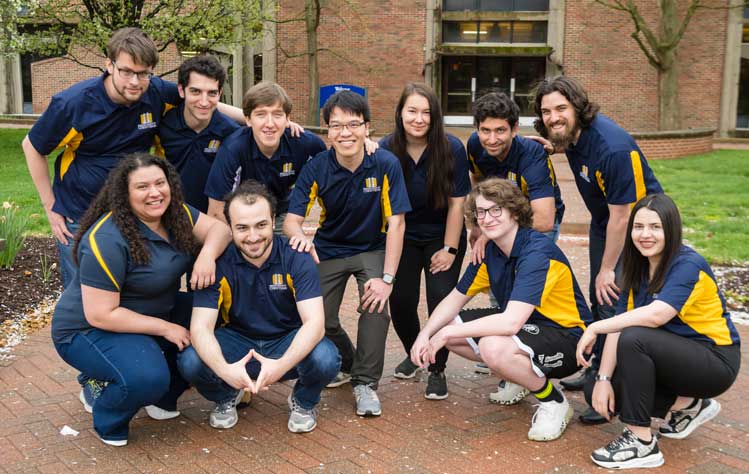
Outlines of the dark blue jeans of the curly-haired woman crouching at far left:
M 191 311 L 192 295 L 179 293 L 170 321 L 189 328 Z M 55 349 L 84 379 L 107 382 L 93 406 L 94 429 L 107 440 L 127 439 L 130 419 L 144 406 L 175 410 L 189 387 L 177 370 L 177 346 L 163 337 L 92 329 Z

